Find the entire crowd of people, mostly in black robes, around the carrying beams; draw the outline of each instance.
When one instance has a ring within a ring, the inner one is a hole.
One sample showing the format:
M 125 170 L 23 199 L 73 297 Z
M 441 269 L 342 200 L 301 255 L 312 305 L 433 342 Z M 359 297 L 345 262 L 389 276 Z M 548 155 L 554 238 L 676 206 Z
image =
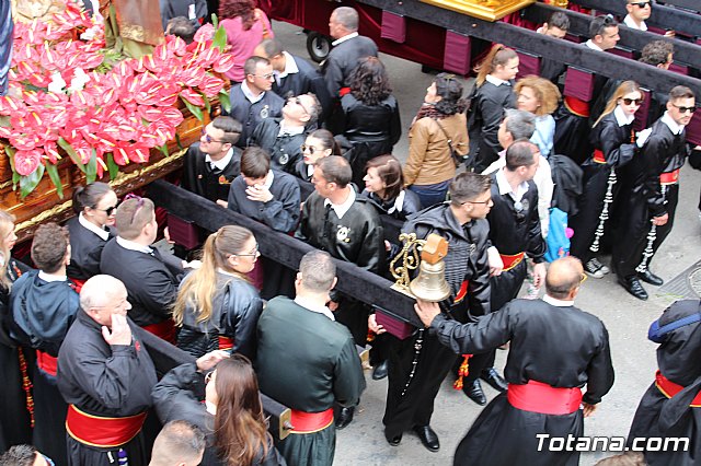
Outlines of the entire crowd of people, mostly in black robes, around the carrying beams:
M 634 14 L 650 10 L 643 3 L 628 2 L 629 27 L 644 28 Z M 163 18 L 164 28 L 186 40 L 207 34 L 196 32 L 202 11 L 204 0 L 192 2 L 187 21 Z M 221 0 L 219 11 L 235 57 L 231 110 L 188 148 L 181 187 L 314 251 L 294 271 L 261 257 L 249 229 L 169 221 L 176 255 L 165 253 L 154 246 L 153 201 L 119 201 L 95 182 L 76 189 L 76 217 L 65 226 L 37 229 L 31 268 L 12 257 L 14 218 L 0 211 L 0 450 L 27 444 L 0 464 L 331 465 L 336 430 L 353 421 L 366 388 L 358 347 L 369 340 L 372 378 L 389 382 L 390 445 L 413 431 L 427 450 L 440 448 L 430 422 L 452 374 L 480 406 L 482 382 L 501 392 L 456 465 L 576 464 L 577 451 L 536 446 L 536 434 L 582 436 L 583 418 L 613 384 L 607 329 L 575 298 L 587 276 L 614 272 L 641 300 L 641 281 L 664 283 L 650 264 L 674 224 L 693 92 L 670 85 L 652 95 L 647 129 L 636 132 L 646 98 L 639 83 L 596 75 L 593 98 L 563 98 L 564 66 L 543 60 L 541 75 L 516 80 L 518 54 L 494 45 L 469 98 L 456 75 L 434 78 L 402 166 L 392 155 L 398 102 L 377 45 L 357 32 L 357 11 L 333 11 L 334 48 L 319 71 L 285 50 L 253 0 Z M 567 28 L 566 15 L 554 13 L 539 33 L 563 37 Z M 583 46 L 612 48 L 618 28 L 598 16 Z M 673 53 L 655 42 L 641 61 L 668 67 Z M 448 242 L 450 296 L 418 300 L 425 328 L 403 339 L 361 296 L 335 289 L 334 259 L 389 276 L 401 244 L 386 237 L 388 221 Z M 530 301 L 517 299 L 525 283 Z M 696 408 L 689 415 L 700 375 L 689 362 L 699 319 L 689 316 L 699 308 L 676 303 L 651 329 L 662 372 L 631 433 L 686 433 L 692 448 L 676 463 L 646 453 L 650 464 L 693 464 L 701 454 Z M 159 380 L 142 330 L 194 362 Z M 506 343 L 502 376 L 495 350 Z M 291 409 L 286 439 L 268 433 L 260 393 Z M 164 427 L 149 452 L 151 408 Z

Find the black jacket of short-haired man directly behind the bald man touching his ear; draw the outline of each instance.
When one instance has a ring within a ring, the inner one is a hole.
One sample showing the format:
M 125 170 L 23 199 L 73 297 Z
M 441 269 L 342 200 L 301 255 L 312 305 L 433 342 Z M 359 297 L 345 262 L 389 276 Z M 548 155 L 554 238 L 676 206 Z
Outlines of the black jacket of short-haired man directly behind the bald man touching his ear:
M 169 255 L 154 255 L 122 247 L 110 240 L 102 251 L 100 270 L 122 280 L 131 303 L 129 317 L 139 326 L 158 324 L 171 316 L 171 304 L 184 270 L 180 260 Z

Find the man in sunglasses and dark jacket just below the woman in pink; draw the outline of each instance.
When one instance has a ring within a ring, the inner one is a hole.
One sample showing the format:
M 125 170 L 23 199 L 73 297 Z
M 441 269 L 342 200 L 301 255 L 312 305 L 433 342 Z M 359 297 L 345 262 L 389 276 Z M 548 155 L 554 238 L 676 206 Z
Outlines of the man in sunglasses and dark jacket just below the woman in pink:
M 231 88 L 229 116 L 241 121 L 241 137 L 237 147 L 245 149 L 249 138 L 266 118 L 279 117 L 285 101 L 271 91 L 273 88 L 273 66 L 267 58 L 251 57 L 243 63 L 245 79 Z

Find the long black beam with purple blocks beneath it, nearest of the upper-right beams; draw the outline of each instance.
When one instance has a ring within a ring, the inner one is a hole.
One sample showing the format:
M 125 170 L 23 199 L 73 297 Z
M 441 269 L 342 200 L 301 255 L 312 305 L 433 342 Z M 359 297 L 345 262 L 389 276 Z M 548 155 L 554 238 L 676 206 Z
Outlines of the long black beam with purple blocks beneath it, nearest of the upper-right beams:
M 402 2 L 397 2 L 395 0 L 358 0 L 357 3 L 380 10 L 389 10 L 446 30 L 540 55 L 543 58 L 564 61 L 570 65 L 576 63 L 577 67 L 586 68 L 608 78 L 634 80 L 653 91 L 667 93 L 674 85 L 686 85 L 697 95 L 701 95 L 701 80 L 699 79 L 671 74 L 668 71 L 648 65 L 639 63 L 613 54 L 590 50 L 583 45 L 549 37 L 513 24 L 503 22 L 490 23 L 475 18 L 466 18 L 463 14 L 443 10 L 417 0 L 404 0 Z M 563 60 L 563 57 L 566 57 L 566 59 Z

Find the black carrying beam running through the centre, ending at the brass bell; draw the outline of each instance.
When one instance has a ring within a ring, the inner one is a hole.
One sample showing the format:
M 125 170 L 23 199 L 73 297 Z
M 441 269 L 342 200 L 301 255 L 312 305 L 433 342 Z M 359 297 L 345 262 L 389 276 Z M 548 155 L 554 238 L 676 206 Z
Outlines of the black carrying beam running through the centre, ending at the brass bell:
M 261 254 L 276 263 L 297 270 L 302 256 L 314 248 L 289 235 L 276 232 L 240 213 L 223 209 L 193 193 L 181 189 L 170 183 L 157 180 L 148 186 L 149 198 L 157 206 L 168 209 L 177 217 L 188 219 L 209 231 L 223 225 L 241 225 L 253 232 L 258 242 Z M 394 318 L 423 327 L 414 312 L 414 300 L 392 290 L 392 282 L 355 264 L 334 260 L 338 283 L 336 289 L 366 304 L 380 307 Z

